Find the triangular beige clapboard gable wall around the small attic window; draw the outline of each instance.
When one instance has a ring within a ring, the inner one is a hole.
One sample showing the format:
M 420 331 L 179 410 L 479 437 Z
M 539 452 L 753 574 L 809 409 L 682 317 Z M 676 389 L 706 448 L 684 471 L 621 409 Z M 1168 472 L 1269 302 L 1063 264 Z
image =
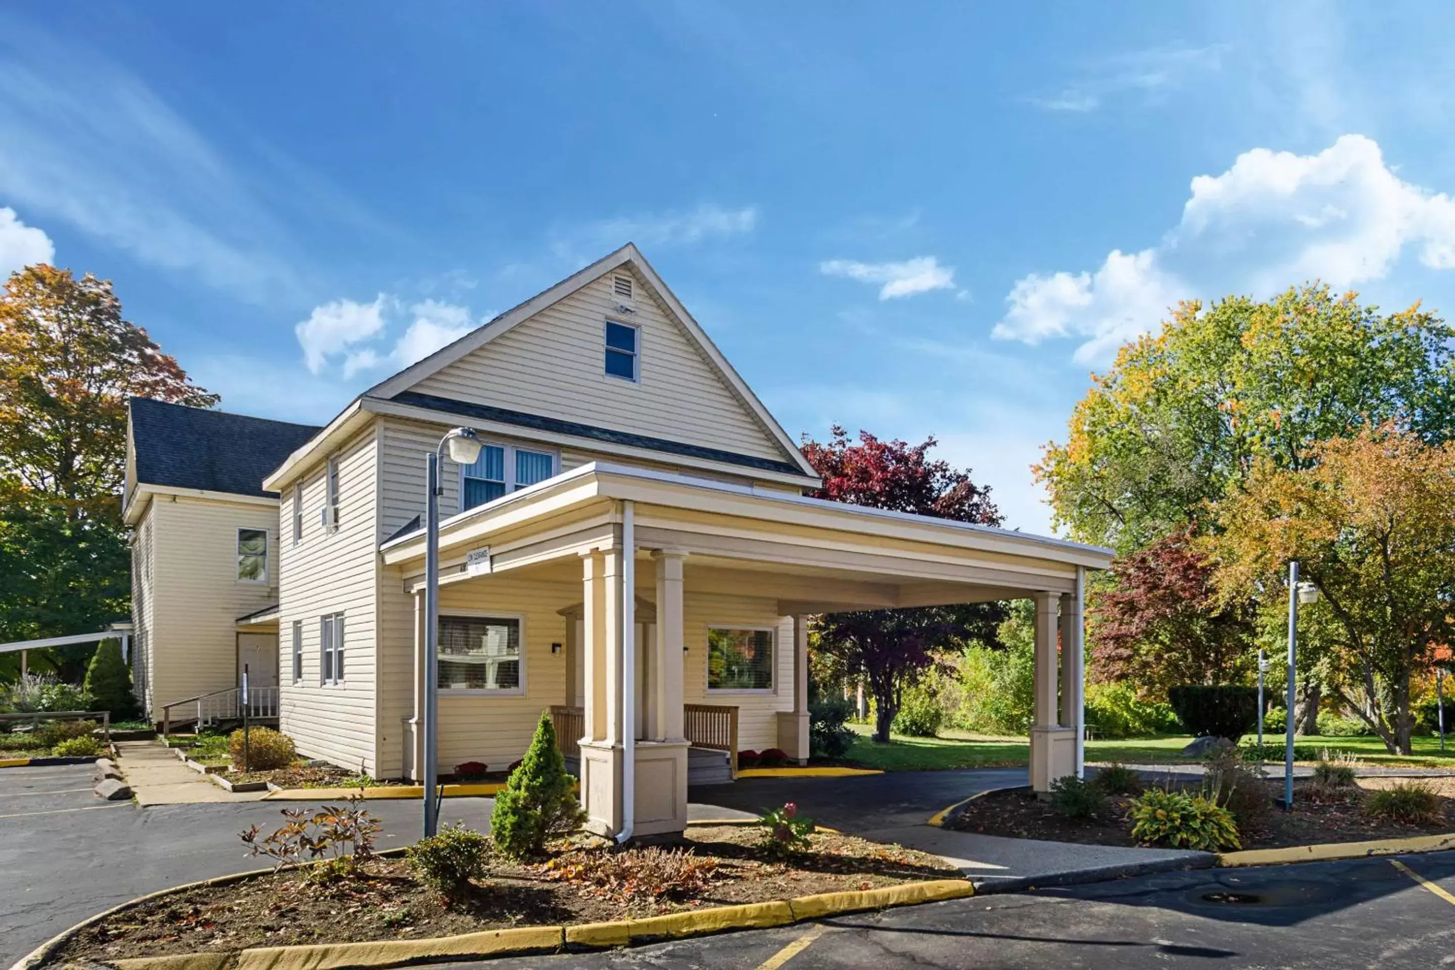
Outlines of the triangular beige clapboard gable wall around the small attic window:
M 637 281 L 615 313 L 610 275 L 416 384 L 415 391 L 786 460 L 773 435 Z M 607 317 L 640 329 L 640 382 L 605 375 Z

